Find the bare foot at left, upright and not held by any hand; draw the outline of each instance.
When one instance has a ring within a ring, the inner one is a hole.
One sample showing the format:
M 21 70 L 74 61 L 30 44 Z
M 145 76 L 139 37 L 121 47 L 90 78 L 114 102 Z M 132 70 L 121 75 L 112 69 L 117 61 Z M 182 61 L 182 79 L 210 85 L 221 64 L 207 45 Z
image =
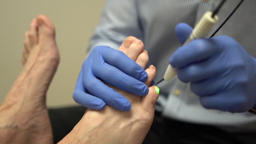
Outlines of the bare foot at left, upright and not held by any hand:
M 1 142 L 53 143 L 45 99 L 59 61 L 53 23 L 39 15 L 25 34 L 24 68 L 0 106 Z

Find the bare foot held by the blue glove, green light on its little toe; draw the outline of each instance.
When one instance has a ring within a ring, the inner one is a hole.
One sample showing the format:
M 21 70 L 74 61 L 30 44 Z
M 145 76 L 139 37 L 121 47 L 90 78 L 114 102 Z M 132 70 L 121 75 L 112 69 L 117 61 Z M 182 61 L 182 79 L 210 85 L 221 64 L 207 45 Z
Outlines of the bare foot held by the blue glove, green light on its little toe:
M 119 50 L 145 68 L 148 53 L 143 50 L 142 41 L 128 37 Z M 150 65 L 146 69 L 149 86 L 154 79 L 156 69 Z M 110 85 L 109 85 L 110 86 Z M 142 143 L 150 129 L 155 112 L 155 101 L 158 94 L 155 86 L 149 87 L 146 97 L 138 97 L 110 86 L 131 101 L 130 111 L 119 111 L 106 106 L 101 111 L 87 110 L 80 122 L 60 143 Z

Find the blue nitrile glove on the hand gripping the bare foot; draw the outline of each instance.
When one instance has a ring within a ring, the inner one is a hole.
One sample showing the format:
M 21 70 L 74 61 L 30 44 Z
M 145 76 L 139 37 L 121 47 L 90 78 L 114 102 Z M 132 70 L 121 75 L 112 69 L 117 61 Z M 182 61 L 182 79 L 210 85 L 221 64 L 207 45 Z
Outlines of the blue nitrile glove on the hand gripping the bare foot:
M 121 111 L 127 111 L 131 109 L 130 101 L 103 82 L 123 91 L 145 96 L 148 87 L 143 82 L 147 78 L 146 71 L 124 52 L 108 46 L 97 46 L 83 63 L 73 99 L 89 109 L 101 110 L 108 104 Z

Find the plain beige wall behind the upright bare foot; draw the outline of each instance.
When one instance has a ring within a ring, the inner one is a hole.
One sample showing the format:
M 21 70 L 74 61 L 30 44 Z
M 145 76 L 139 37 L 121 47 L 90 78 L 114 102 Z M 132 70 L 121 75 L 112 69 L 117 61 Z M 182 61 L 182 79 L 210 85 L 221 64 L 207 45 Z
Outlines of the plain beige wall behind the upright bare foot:
M 0 1 L 0 103 L 19 74 L 24 33 L 33 17 L 45 14 L 55 24 L 61 62 L 48 91 L 48 106 L 75 104 L 72 93 L 99 22 L 103 0 Z

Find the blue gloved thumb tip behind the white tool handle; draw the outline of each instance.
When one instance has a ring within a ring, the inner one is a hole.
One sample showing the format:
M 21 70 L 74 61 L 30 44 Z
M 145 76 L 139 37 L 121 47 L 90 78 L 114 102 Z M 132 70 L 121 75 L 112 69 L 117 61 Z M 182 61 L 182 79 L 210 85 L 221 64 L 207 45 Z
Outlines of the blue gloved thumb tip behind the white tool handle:
M 175 27 L 175 33 L 181 44 L 185 43 L 185 41 L 188 39 L 192 31 L 193 31 L 193 28 L 190 27 L 187 23 L 179 23 Z

